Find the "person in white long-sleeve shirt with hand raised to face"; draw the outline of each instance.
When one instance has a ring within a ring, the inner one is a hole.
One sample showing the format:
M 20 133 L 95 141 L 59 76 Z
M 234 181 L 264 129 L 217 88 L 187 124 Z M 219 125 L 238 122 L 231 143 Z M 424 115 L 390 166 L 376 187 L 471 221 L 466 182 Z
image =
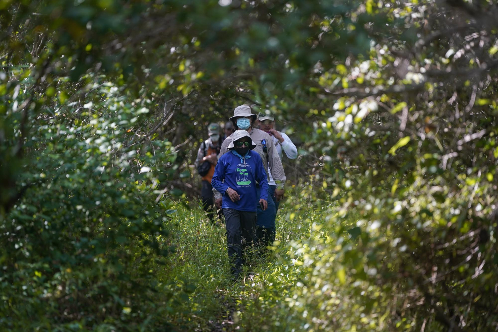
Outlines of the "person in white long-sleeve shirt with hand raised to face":
M 273 140 L 273 145 L 275 146 L 275 150 L 277 151 L 280 160 L 282 160 L 284 152 L 287 158 L 296 159 L 297 148 L 285 133 L 275 130 L 275 117 L 271 115 L 269 111 L 265 111 L 264 113 L 259 114 L 258 120 L 259 129 L 261 129 L 263 132 L 266 132 Z M 275 181 L 273 181 L 271 174 L 269 174 L 268 185 L 268 195 L 271 195 L 273 197 L 273 191 L 276 188 L 276 183 Z M 275 201 L 275 214 L 278 210 L 278 205 L 280 205 L 280 202 Z

